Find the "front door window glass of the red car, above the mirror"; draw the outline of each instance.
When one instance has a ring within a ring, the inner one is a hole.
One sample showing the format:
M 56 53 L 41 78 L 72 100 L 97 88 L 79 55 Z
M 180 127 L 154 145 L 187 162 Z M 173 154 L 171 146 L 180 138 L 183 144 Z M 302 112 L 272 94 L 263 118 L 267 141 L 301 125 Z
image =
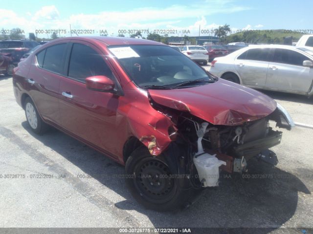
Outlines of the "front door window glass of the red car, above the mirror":
M 96 51 L 87 45 L 74 43 L 68 67 L 68 77 L 85 82 L 92 76 L 112 78 L 112 71 Z

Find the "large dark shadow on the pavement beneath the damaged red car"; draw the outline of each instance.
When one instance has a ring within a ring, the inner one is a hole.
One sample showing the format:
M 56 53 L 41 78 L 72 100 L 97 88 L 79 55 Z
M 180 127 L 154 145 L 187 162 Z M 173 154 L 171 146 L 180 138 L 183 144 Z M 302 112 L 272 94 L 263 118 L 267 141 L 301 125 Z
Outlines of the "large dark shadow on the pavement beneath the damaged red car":
M 86 175 L 124 197 L 125 200 L 114 204 L 116 208 L 141 213 L 155 227 L 244 227 L 257 228 L 253 233 L 265 234 L 280 228 L 291 219 L 297 208 L 299 193 L 311 194 L 304 184 L 311 185 L 310 180 L 302 182 L 297 176 L 251 159 L 248 164 L 249 174 L 222 173 L 220 186 L 206 189 L 188 209 L 155 212 L 140 206 L 129 194 L 122 178 L 123 166 L 54 128 L 38 136 L 31 131 L 26 121 L 22 122 L 22 127 Z M 303 170 L 299 169 L 299 173 Z M 313 175 L 312 170 L 305 170 L 307 174 Z M 112 175 L 121 175 L 121 178 L 112 179 Z

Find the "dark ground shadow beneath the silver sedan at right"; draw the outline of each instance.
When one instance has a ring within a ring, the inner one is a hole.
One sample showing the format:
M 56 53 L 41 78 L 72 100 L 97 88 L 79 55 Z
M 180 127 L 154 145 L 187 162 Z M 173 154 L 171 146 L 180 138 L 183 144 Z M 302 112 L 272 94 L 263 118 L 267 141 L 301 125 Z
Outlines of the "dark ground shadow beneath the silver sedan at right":
M 299 94 L 282 93 L 282 92 L 268 91 L 268 90 L 259 90 L 259 91 L 277 100 L 300 102 L 304 104 L 313 104 L 313 98 L 308 98 L 306 96 L 299 95 Z

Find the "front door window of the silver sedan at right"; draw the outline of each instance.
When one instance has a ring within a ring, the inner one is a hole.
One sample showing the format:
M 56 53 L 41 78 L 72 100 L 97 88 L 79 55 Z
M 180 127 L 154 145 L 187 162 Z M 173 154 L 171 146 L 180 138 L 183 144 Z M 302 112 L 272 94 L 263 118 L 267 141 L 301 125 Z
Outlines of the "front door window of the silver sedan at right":
M 286 49 L 275 49 L 272 62 L 286 63 L 302 66 L 304 60 L 309 60 L 306 56 Z

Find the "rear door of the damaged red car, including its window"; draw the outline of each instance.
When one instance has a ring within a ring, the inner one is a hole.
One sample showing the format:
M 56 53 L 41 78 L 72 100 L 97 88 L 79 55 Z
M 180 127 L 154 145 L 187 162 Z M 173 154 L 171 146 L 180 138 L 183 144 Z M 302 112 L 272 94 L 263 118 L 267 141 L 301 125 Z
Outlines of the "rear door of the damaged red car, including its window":
M 39 51 L 32 61 L 26 83 L 30 97 L 43 118 L 60 123 L 59 86 L 64 72 L 67 43 L 51 45 Z

